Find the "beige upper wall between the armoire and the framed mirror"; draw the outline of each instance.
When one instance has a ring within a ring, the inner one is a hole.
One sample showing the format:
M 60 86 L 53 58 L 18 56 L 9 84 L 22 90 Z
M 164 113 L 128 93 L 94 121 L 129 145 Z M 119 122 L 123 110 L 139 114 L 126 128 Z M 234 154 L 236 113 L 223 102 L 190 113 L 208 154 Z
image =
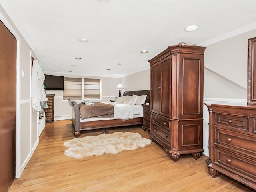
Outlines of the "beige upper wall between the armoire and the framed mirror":
M 251 30 L 206 46 L 204 66 L 219 76 L 204 70 L 204 98 L 246 99 L 248 39 L 255 36 Z

